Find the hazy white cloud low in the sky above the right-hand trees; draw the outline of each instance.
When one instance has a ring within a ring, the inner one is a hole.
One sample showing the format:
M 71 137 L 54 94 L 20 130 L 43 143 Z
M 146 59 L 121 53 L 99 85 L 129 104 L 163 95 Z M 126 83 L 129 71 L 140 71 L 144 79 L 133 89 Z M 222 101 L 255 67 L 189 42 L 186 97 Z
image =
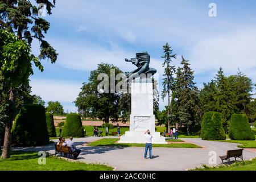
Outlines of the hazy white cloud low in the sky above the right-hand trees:
M 191 47 L 192 68 L 197 74 L 222 67 L 227 75 L 236 74 L 238 68 L 256 81 L 256 28 L 244 28 L 229 34 L 201 40 Z

